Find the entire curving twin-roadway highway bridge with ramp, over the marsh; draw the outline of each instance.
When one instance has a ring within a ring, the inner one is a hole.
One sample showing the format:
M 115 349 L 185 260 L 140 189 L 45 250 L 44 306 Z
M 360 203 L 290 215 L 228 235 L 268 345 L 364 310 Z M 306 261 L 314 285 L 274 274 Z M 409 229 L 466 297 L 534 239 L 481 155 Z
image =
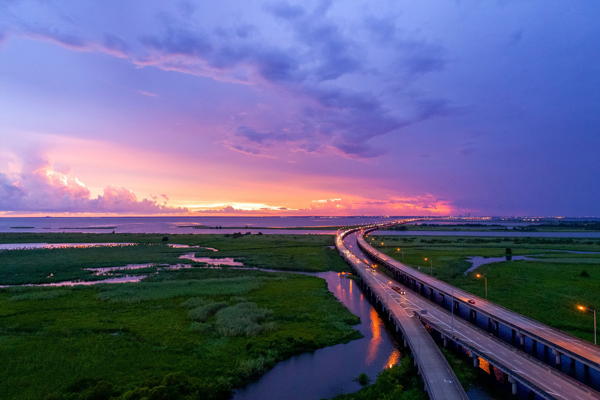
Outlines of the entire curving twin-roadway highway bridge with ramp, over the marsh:
M 383 312 L 390 321 L 394 321 L 396 329 L 410 347 L 415 363 L 419 365 L 425 389 L 431 399 L 466 398 L 462 388 L 456 387 L 456 378 L 449 370 L 437 345 L 431 339 L 426 324 L 430 329 L 437 330 L 448 341 L 461 345 L 473 359 L 474 365 L 480 362 L 488 363 L 488 368 L 494 372 L 505 374 L 512 384 L 513 393 L 517 393 L 519 384 L 526 387 L 530 393 L 535 393 L 544 399 L 600 399 L 600 393 L 583 383 L 563 374 L 558 369 L 550 368 L 535 357 L 513 347 L 494 335 L 485 332 L 461 318 L 455 317 L 460 306 L 469 308 L 472 321 L 481 320 L 481 315 L 487 315 L 494 329 L 499 324 L 511 326 L 521 342 L 524 335 L 542 342 L 554 349 L 554 354 L 562 360 L 563 354 L 569 354 L 571 359 L 584 360 L 584 365 L 596 368 L 597 350 L 589 342 L 582 341 L 557 329 L 553 329 L 516 312 L 510 311 L 492 302 L 473 296 L 459 288 L 452 287 L 439 279 L 419 272 L 385 254 L 379 253 L 365 240 L 364 235 L 370 231 L 419 219 L 406 219 L 382 222 L 368 227 L 353 228 L 342 231 L 336 239 L 336 246 L 355 273 L 360 276 L 361 283 L 376 302 L 381 305 Z M 428 220 L 431 220 L 428 218 Z M 376 264 L 377 268 L 371 268 Z M 381 270 L 384 267 L 388 273 Z M 391 279 L 390 275 L 396 279 Z M 392 290 L 391 286 L 406 289 L 405 294 Z M 413 291 L 414 290 L 414 291 Z M 436 295 L 437 292 L 437 295 Z M 448 298 L 446 299 L 446 296 Z M 454 314 L 434 300 L 444 304 L 451 300 Z M 475 308 L 468 302 L 475 299 Z M 426 310 L 426 312 L 422 312 Z M 535 335 L 535 336 L 534 336 Z M 597 346 L 596 346 L 597 347 Z M 586 350 L 587 349 L 587 350 Z M 594 364 L 596 362 L 596 364 Z M 490 370 L 491 372 L 491 370 Z M 458 384 L 460 386 L 460 384 Z

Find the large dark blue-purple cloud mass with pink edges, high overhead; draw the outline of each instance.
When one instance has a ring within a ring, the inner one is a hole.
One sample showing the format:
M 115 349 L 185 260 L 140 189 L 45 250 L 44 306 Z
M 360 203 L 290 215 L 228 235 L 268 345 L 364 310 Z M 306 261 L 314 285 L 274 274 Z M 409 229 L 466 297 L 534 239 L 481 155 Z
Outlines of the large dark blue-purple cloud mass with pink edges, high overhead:
M 158 31 L 121 38 L 97 33 L 83 38 L 42 23 L 7 24 L 7 35 L 52 41 L 72 50 L 103 52 L 137 67 L 157 67 L 221 82 L 254 85 L 283 101 L 271 127 L 234 121 L 224 145 L 248 155 L 275 146 L 344 157 L 381 154 L 370 140 L 451 110 L 448 101 L 419 94 L 422 74 L 445 68 L 443 48 L 403 32 L 394 16 L 345 21 L 329 16 L 329 2 L 315 7 L 278 2 L 263 11 L 272 26 L 243 20 L 202 28 L 194 9 L 162 11 Z M 272 40 L 275 35 L 284 40 Z M 151 92 L 140 91 L 147 96 Z M 281 111 L 281 110 L 280 110 Z M 276 151 L 276 150 L 272 150 Z

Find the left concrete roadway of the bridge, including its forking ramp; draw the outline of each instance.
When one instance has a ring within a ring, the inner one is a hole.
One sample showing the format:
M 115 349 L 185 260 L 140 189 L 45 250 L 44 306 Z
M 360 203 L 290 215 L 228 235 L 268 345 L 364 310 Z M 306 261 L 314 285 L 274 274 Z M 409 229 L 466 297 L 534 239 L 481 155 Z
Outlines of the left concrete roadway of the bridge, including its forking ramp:
M 343 239 L 340 236 L 344 236 Z M 425 353 L 422 353 L 424 347 L 421 347 L 419 351 L 419 345 L 427 342 L 425 336 L 430 341 L 433 340 L 428 332 L 422 329 L 422 322 L 416 323 L 417 318 L 428 323 L 433 329 L 446 335 L 452 341 L 469 349 L 476 356 L 473 357 L 474 362 L 478 363 L 481 357 L 485 362 L 496 366 L 497 369 L 506 373 L 509 381 L 513 384 L 514 391 L 517 389 L 517 383 L 521 383 L 532 390 L 532 392 L 546 399 L 600 399 L 598 392 L 562 374 L 562 372 L 548 368 L 547 365 L 539 360 L 518 351 L 514 347 L 466 323 L 460 318 L 453 318 L 450 312 L 424 297 L 409 290 L 406 290 L 406 295 L 398 294 L 396 291 L 391 290 L 388 288 L 388 282 L 391 281 L 389 276 L 379 271 L 372 272 L 371 268 L 365 268 L 365 266 L 370 264 L 370 260 L 365 257 L 365 253 L 357 246 L 357 240 L 361 236 L 361 233 L 354 231 L 341 234 L 340 236 L 337 239 L 338 249 L 344 252 L 347 261 L 355 266 L 358 275 L 361 276 L 370 290 L 373 290 L 373 293 L 376 294 L 385 309 L 390 312 L 397 326 L 403 331 L 404 338 L 407 339 L 407 344 L 410 345 L 413 354 L 417 354 L 416 357 L 419 365 L 421 365 L 421 371 L 424 373 L 424 377 L 427 377 L 427 382 L 430 386 L 431 398 L 438 398 L 435 397 L 436 395 L 446 396 L 447 394 L 444 392 L 448 387 L 445 384 L 449 383 L 447 381 L 452 381 L 453 378 L 442 377 L 444 372 L 440 370 L 443 368 L 437 366 L 436 369 L 436 363 L 447 365 L 445 360 L 443 362 L 439 361 L 439 357 L 443 359 L 443 356 L 442 354 L 436 354 L 435 350 L 437 350 L 437 346 L 435 349 L 429 346 L 430 350 L 433 351 L 431 354 L 428 353 L 427 356 L 425 356 Z M 359 260 L 358 262 L 356 261 L 357 259 Z M 393 280 L 392 282 L 394 282 L 392 285 L 400 286 L 400 283 Z M 472 295 L 467 298 L 472 298 Z M 422 309 L 427 309 L 427 314 L 415 317 L 413 311 L 420 314 Z M 421 352 L 421 357 L 418 356 L 419 352 Z M 439 350 L 437 353 L 439 353 Z M 428 360 L 427 365 L 424 364 L 426 359 Z M 435 377 L 431 381 L 427 374 L 427 368 L 432 368 L 430 374 L 432 377 Z M 438 390 L 437 393 L 436 390 Z M 454 396 L 456 395 L 460 395 L 460 393 L 456 393 Z

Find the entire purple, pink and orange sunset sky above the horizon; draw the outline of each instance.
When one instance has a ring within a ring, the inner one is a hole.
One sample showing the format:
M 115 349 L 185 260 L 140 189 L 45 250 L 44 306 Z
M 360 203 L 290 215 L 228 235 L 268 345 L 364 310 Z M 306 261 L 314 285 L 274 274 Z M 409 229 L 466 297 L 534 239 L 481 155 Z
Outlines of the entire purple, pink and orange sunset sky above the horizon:
M 0 216 L 600 215 L 598 1 L 0 2 Z

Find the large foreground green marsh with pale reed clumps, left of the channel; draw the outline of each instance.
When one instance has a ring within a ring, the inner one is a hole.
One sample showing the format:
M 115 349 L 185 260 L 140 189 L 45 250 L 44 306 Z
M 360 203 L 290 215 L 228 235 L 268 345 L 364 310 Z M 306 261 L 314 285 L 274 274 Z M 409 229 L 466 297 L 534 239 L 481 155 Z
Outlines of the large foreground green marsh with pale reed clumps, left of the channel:
M 224 399 L 292 354 L 361 337 L 323 279 L 257 270 L 2 288 L 0 303 L 5 399 Z

